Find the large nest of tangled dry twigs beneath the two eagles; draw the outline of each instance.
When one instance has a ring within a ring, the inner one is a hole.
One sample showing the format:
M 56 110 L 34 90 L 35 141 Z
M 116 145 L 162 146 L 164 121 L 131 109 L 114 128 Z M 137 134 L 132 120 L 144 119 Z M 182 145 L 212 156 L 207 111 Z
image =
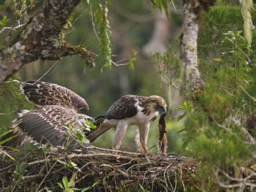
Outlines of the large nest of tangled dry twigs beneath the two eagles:
M 170 154 L 139 154 L 87 147 L 72 152 L 26 152 L 16 162 L 2 161 L 3 191 L 60 190 L 67 176 L 70 186 L 88 190 L 147 189 L 183 191 L 195 185 L 196 163 Z

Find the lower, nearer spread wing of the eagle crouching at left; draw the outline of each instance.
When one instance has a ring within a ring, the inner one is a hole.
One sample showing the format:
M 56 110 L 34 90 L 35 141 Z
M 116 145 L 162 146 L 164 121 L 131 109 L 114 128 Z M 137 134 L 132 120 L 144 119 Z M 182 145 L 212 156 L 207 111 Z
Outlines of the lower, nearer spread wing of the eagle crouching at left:
M 21 113 L 13 123 L 13 128 L 20 134 L 26 134 L 36 143 L 51 144 L 54 147 L 65 146 L 67 144 L 67 129 L 64 125 L 70 123 L 74 129 L 83 129 L 79 122 L 93 118 L 87 115 L 75 113 L 73 110 L 61 106 L 45 106 L 34 111 Z M 74 134 L 74 130 L 70 131 Z M 72 148 L 78 143 L 70 140 Z

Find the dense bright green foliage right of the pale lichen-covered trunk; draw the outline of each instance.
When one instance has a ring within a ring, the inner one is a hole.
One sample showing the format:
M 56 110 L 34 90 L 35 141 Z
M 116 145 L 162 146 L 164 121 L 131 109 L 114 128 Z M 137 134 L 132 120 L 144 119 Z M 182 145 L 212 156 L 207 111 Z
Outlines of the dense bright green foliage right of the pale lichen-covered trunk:
M 219 13 L 226 15 L 225 20 L 221 21 L 223 15 Z M 250 164 L 256 149 L 244 131 L 246 119 L 255 111 L 255 59 L 247 49 L 242 31 L 231 31 L 235 26 L 229 22 L 230 17 L 240 22 L 239 8 L 215 6 L 204 14 L 205 29 L 199 35 L 199 58 L 205 86 L 196 98 L 183 132 L 188 140 L 188 154 L 205 163 L 199 174 L 203 183 L 209 182 L 204 178 L 212 175 L 212 170 L 223 170 L 237 179 L 241 177 L 241 167 L 252 172 Z M 236 26 L 241 27 L 242 23 Z M 216 30 L 210 31 L 211 28 Z M 211 56 L 208 46 L 213 48 Z M 216 177 L 220 176 L 211 177 L 212 182 L 216 182 Z M 220 177 L 219 181 L 221 179 L 228 182 L 227 177 Z

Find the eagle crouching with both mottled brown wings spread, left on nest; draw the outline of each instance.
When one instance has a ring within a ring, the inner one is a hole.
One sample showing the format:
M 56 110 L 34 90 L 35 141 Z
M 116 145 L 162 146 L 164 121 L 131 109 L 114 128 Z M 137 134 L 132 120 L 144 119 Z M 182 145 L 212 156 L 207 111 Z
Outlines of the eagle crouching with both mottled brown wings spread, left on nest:
M 77 113 L 79 109 L 88 111 L 89 106 L 82 97 L 68 88 L 42 81 L 26 81 L 20 85 L 20 92 L 38 108 L 19 113 L 12 125 L 12 134 L 19 133 L 19 135 L 6 145 L 20 145 L 30 140 L 53 147 L 66 146 L 67 126 L 65 125 L 72 125 L 85 136 L 84 123 L 95 122 L 92 117 Z M 70 138 L 68 146 L 76 148 L 79 144 Z

